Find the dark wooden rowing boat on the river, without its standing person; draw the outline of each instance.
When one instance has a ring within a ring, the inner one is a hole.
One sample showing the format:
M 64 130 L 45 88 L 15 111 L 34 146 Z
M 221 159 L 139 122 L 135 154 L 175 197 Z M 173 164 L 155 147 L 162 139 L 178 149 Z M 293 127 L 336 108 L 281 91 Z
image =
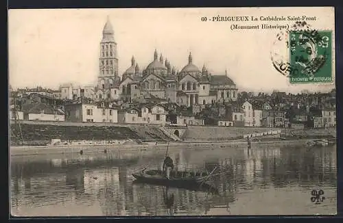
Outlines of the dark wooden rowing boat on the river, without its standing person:
M 132 174 L 137 182 L 185 189 L 210 189 L 215 187 L 209 181 L 210 174 L 206 172 L 171 171 L 169 179 L 161 170 L 141 170 Z

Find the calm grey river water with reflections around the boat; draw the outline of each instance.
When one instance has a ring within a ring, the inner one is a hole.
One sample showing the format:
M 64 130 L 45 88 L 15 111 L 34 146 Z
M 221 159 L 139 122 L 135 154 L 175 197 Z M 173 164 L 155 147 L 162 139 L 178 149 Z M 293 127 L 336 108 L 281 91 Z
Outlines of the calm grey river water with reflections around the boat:
M 165 150 L 15 156 L 11 213 L 16 216 L 313 215 L 337 209 L 336 148 L 211 146 L 172 148 L 178 170 L 220 167 L 220 194 L 133 183 L 143 166 L 161 168 Z M 324 200 L 311 201 L 322 189 Z

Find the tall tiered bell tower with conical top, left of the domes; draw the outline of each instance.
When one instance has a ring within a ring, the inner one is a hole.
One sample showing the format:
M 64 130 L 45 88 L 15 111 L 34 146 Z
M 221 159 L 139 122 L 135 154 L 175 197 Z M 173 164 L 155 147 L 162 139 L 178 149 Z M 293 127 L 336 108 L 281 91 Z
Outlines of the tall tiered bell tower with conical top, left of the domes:
M 118 75 L 117 42 L 110 19 L 107 21 L 102 31 L 102 41 L 100 42 L 99 56 L 99 76 L 98 88 L 112 88 L 116 81 L 120 81 Z

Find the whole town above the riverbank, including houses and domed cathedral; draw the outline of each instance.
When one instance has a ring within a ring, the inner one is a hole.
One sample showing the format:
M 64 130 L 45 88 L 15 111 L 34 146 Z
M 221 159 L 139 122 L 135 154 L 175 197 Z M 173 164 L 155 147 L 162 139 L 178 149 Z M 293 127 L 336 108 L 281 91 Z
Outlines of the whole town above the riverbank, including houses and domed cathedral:
M 179 71 L 155 49 L 140 69 L 132 56 L 119 76 L 117 43 L 108 19 L 100 42 L 97 84 L 13 90 L 10 119 L 176 126 L 323 128 L 336 122 L 335 89 L 328 93 L 242 92 L 228 77 L 193 64 Z

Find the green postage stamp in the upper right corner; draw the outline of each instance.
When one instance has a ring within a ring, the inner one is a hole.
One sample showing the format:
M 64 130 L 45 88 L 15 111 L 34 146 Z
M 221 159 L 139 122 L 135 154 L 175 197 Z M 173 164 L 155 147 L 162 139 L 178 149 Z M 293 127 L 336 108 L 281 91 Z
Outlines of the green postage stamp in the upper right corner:
M 290 83 L 332 82 L 332 32 L 289 31 Z

